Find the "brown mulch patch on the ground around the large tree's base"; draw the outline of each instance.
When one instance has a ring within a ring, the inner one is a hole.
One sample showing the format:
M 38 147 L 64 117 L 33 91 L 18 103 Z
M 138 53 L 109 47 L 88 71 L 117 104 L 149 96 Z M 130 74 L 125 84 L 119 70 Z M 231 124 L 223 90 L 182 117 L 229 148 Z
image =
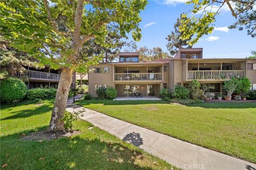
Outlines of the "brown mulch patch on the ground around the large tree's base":
M 27 136 L 21 138 L 24 141 L 45 141 L 45 140 L 54 140 L 59 139 L 61 137 L 70 137 L 75 134 L 79 134 L 79 131 L 48 131 L 47 129 L 39 132 L 30 133 Z

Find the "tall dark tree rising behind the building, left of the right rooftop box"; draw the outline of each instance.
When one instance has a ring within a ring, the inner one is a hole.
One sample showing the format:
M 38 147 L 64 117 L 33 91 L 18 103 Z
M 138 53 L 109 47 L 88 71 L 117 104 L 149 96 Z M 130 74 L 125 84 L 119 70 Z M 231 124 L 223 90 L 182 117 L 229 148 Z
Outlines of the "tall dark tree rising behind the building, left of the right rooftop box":
M 166 45 L 167 50 L 169 50 L 171 55 L 175 55 L 179 48 L 191 48 L 192 46 L 188 44 L 192 35 L 188 39 L 181 39 L 183 31 L 179 31 L 180 18 L 174 23 L 174 31 L 166 37 L 168 44 Z

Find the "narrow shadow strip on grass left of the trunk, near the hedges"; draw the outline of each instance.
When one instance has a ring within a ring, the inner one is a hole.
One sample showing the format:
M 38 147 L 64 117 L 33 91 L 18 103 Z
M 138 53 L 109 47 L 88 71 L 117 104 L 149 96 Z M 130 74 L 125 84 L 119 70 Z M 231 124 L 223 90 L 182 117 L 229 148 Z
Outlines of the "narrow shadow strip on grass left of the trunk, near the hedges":
M 42 106 L 35 107 L 33 109 L 22 109 L 19 111 L 12 111 L 10 112 L 10 114 L 12 114 L 11 116 L 1 118 L 0 120 L 26 118 L 34 115 L 45 114 L 45 112 L 48 112 L 50 110 L 52 110 L 52 103 L 43 103 Z

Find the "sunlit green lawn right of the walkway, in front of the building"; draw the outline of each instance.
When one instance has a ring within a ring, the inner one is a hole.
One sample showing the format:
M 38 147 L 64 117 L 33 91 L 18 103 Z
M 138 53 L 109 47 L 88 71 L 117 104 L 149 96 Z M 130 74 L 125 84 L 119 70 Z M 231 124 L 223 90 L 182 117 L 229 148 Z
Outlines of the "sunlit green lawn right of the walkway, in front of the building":
M 256 103 L 77 101 L 86 108 L 256 163 Z

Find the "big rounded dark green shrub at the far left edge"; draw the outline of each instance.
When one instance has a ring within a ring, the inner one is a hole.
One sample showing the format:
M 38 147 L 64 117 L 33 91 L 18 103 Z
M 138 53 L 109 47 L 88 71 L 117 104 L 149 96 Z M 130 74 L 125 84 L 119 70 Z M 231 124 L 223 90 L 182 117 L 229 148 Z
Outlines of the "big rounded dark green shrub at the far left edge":
M 24 98 L 27 87 L 19 78 L 10 77 L 0 83 L 1 102 L 11 103 Z

